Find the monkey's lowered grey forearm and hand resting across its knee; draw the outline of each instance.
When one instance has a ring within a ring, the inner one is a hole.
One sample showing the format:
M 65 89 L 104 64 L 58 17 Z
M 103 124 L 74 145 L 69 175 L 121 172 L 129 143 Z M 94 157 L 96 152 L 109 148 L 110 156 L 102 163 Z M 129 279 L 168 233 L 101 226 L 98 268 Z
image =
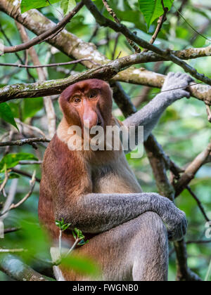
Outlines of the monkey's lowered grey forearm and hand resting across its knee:
M 186 234 L 184 212 L 169 199 L 155 193 L 88 194 L 73 202 L 71 209 L 70 204 L 62 203 L 57 202 L 56 219 L 64 218 L 65 222 L 72 224 L 72 228 L 83 232 L 105 232 L 146 211 L 153 211 L 167 224 L 171 240 L 181 240 Z M 58 204 L 62 204 L 62 208 Z

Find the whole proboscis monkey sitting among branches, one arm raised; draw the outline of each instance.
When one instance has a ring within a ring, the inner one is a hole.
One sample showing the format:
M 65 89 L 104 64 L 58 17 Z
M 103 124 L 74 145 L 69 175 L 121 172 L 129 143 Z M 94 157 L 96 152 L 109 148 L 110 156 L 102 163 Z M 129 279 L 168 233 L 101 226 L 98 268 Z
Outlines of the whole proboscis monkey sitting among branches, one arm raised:
M 187 74 L 170 73 L 162 93 L 122 124 L 143 126 L 144 139 L 162 112 L 183 97 L 193 81 Z M 168 235 L 181 240 L 186 216 L 169 199 L 142 192 L 120 150 L 73 150 L 68 144 L 71 126 L 120 126 L 113 117 L 113 93 L 106 81 L 89 79 L 69 86 L 60 96 L 63 119 L 44 155 L 39 198 L 39 218 L 53 240 L 58 240 L 55 220 L 71 223 L 64 232 L 65 245 L 74 241 L 72 228 L 90 238 L 75 249 L 100 265 L 96 280 L 167 280 Z M 82 132 L 82 144 L 84 132 Z M 165 223 L 165 225 L 164 225 Z M 60 270 L 61 269 L 61 270 Z M 93 280 L 72 270 L 57 268 L 58 280 Z

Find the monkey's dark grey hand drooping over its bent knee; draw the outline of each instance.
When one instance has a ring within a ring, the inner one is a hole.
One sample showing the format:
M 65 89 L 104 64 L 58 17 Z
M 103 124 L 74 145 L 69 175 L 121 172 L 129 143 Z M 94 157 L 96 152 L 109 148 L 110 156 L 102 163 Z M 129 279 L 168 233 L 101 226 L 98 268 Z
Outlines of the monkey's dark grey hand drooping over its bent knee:
M 167 225 L 169 240 L 182 240 L 184 235 L 186 235 L 188 227 L 186 214 L 179 210 L 170 199 L 166 197 L 161 198 L 162 202 L 158 214 Z

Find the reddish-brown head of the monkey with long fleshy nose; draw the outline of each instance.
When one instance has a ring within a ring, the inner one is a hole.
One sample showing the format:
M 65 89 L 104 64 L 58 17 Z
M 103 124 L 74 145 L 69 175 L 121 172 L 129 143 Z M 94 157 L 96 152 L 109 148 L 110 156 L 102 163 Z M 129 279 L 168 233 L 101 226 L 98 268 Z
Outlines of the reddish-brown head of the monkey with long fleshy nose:
M 89 79 L 69 86 L 59 103 L 70 125 L 105 128 L 112 117 L 112 91 L 103 80 Z

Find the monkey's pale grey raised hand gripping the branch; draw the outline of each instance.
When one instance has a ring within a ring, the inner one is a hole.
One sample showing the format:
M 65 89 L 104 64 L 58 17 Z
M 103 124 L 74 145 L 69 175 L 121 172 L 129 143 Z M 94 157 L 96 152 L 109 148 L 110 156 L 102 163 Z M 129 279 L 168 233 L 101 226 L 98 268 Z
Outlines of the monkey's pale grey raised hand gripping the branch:
M 170 104 L 180 98 L 190 98 L 190 93 L 186 91 L 186 88 L 192 81 L 194 80 L 188 74 L 170 72 L 167 74 L 160 94 Z

